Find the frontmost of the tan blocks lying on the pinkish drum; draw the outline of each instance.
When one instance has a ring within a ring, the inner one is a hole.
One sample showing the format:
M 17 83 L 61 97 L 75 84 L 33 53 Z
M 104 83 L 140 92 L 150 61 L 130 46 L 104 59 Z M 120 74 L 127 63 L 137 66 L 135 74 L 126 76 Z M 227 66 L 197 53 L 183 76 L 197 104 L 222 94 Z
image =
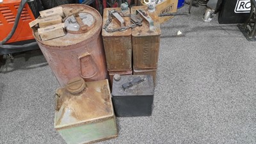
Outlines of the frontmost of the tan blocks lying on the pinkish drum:
M 47 26 L 45 28 L 39 28 L 38 35 L 40 36 L 42 41 L 65 36 L 65 24 L 61 23 L 52 26 Z

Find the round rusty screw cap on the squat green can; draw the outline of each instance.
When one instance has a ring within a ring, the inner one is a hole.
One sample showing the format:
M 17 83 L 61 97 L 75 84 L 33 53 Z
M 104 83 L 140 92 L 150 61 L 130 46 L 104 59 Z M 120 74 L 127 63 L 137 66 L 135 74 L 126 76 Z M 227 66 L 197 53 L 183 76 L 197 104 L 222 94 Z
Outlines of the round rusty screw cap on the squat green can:
M 85 88 L 84 79 L 81 77 L 76 77 L 74 79 L 71 79 L 70 81 L 68 81 L 66 88 L 68 92 L 72 94 L 82 92 Z

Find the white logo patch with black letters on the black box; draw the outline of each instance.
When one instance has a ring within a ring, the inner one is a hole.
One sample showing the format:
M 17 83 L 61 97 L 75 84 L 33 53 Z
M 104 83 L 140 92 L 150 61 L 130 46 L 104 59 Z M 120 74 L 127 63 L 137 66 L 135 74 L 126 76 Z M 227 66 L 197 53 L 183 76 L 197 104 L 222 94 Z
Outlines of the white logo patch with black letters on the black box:
M 250 13 L 251 2 L 250 0 L 237 0 L 235 13 Z

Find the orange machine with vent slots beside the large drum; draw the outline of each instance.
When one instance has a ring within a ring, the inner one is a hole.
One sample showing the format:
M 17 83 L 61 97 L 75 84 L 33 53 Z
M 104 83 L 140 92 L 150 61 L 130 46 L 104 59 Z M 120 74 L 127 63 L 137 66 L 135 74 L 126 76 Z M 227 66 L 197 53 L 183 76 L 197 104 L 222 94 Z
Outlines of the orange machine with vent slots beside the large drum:
M 3 0 L 3 3 L 0 3 L 0 41 L 6 38 L 12 30 L 19 5 L 20 0 Z M 28 3 L 26 3 L 20 15 L 17 29 L 6 44 L 34 39 L 28 24 L 32 20 L 35 20 L 35 16 Z

